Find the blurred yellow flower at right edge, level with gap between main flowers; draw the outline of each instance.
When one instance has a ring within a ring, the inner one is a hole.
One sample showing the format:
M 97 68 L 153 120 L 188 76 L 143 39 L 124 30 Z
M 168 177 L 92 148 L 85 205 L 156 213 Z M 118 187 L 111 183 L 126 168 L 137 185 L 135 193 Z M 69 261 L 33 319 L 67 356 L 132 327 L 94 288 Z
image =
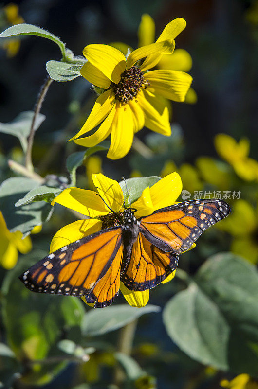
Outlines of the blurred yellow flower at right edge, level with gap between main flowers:
M 258 181 L 258 162 L 249 158 L 250 141 L 241 138 L 239 142 L 227 134 L 218 134 L 214 144 L 219 156 L 227 161 L 236 174 L 246 181 Z

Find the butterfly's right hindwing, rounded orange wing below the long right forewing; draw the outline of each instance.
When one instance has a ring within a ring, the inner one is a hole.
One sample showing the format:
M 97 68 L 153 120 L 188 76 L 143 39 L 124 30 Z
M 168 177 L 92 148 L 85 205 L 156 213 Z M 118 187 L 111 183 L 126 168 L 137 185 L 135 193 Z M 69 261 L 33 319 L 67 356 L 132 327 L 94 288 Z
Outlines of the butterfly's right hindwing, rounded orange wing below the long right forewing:
M 122 281 L 129 290 L 151 289 L 165 280 L 177 264 L 177 254 L 162 251 L 139 233 Z

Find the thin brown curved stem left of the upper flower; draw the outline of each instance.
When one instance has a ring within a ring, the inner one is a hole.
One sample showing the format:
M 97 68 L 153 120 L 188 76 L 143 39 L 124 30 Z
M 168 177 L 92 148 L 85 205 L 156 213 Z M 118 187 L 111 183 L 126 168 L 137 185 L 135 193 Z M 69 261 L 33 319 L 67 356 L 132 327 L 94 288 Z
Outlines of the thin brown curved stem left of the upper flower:
M 40 88 L 40 92 L 39 92 L 39 95 L 37 98 L 37 103 L 36 103 L 35 110 L 34 110 L 34 116 L 33 116 L 32 123 L 31 123 L 30 135 L 28 137 L 28 148 L 27 148 L 26 157 L 25 157 L 25 167 L 27 170 L 29 170 L 31 172 L 33 172 L 33 170 L 34 170 L 33 164 L 32 164 L 32 159 L 31 159 L 31 154 L 32 154 L 32 145 L 33 145 L 34 134 L 35 134 L 35 122 L 37 119 L 37 115 L 40 112 L 40 109 L 41 109 L 42 103 L 44 101 L 44 98 L 46 96 L 46 93 L 48 91 L 48 88 L 50 87 L 52 82 L 53 82 L 52 78 L 48 77 L 46 79 L 46 81 L 44 82 L 44 84 L 42 85 L 42 87 Z

